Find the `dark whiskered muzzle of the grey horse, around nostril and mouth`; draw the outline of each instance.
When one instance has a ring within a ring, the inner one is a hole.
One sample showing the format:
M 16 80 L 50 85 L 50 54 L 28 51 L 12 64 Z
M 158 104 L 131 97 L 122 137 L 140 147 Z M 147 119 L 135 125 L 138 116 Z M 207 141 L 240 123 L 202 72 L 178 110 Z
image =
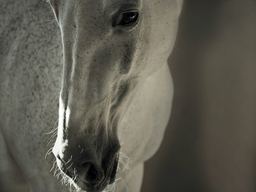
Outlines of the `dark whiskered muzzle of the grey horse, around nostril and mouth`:
M 71 160 L 66 162 L 65 158 L 61 158 L 59 154 L 54 154 L 59 169 L 72 179 L 75 185 L 84 191 L 100 192 L 107 185 L 115 182 L 119 164 L 119 150 L 120 146 L 110 149 L 100 161 L 86 158 L 86 156 L 84 158 L 73 156 Z

